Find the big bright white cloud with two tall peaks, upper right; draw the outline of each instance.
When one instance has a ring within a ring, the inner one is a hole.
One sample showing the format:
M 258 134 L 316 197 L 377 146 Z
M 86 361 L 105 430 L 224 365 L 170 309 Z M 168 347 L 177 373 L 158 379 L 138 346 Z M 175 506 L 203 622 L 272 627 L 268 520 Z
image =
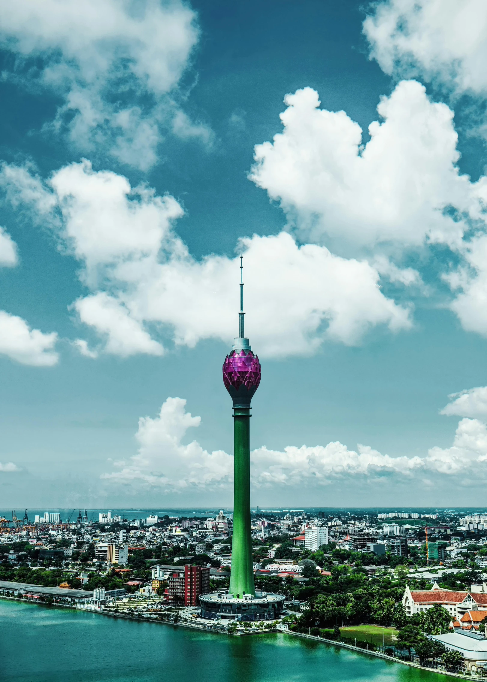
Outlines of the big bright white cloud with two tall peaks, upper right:
M 284 102 L 284 130 L 256 145 L 250 179 L 304 237 L 349 248 L 456 246 L 466 220 L 481 215 L 486 179 L 460 175 L 453 112 L 430 102 L 415 80 L 381 98 L 383 122 L 370 123 L 365 146 L 359 125 L 344 111 L 319 108 L 311 88 Z

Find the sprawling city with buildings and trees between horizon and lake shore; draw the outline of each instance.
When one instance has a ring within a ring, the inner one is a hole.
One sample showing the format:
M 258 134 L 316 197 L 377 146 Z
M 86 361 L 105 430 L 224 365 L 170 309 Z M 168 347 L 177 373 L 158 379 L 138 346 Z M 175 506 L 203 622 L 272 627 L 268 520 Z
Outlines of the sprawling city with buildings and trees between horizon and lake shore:
M 475 662 L 457 641 L 457 664 L 478 670 L 485 656 L 487 665 L 487 512 L 257 507 L 256 594 L 285 595 L 280 612 L 259 619 L 205 612 L 205 594 L 228 593 L 233 532 L 231 512 L 207 513 L 128 518 L 79 509 L 29 520 L 27 509 L 22 518 L 12 511 L 0 518 L 0 595 L 228 633 L 278 627 L 338 636 L 358 620 L 396 627 L 391 651 L 403 655 L 401 633 L 424 628 L 441 608 L 434 646 L 475 636 Z M 421 647 L 408 652 L 419 660 Z

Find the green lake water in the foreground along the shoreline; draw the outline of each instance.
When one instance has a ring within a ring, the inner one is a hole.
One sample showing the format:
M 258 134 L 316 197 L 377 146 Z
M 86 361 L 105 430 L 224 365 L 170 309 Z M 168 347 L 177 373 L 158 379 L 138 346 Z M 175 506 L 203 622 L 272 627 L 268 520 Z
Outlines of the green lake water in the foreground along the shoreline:
M 1 682 L 451 682 L 297 637 L 228 637 L 0 599 Z

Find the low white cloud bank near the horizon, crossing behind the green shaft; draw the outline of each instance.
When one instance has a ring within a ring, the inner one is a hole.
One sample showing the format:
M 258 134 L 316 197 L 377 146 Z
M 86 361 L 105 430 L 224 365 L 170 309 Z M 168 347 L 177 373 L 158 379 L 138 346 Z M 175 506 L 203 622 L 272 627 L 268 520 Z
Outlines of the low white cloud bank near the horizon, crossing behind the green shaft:
M 224 451 L 207 452 L 197 441 L 183 445 L 188 428 L 198 427 L 201 417 L 186 412 L 186 400 L 168 398 L 156 419 L 138 421 L 138 453 L 114 463 L 115 471 L 102 479 L 128 490 L 159 488 L 166 492 L 228 489 L 233 479 L 233 458 Z M 452 447 L 432 447 L 424 457 L 391 457 L 368 445 L 350 450 L 340 442 L 309 447 L 291 445 L 284 451 L 260 447 L 250 453 L 254 488 L 306 488 L 336 484 L 359 477 L 371 481 L 394 477 L 428 482 L 431 474 L 487 478 L 487 427 L 477 419 L 462 419 Z

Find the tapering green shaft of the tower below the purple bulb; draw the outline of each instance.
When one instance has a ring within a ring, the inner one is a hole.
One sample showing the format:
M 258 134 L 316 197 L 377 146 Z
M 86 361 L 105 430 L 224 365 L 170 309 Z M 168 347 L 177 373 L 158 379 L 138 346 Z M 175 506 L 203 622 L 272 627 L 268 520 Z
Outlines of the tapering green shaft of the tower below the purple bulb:
M 234 407 L 233 539 L 230 592 L 255 596 L 250 528 L 250 408 Z

